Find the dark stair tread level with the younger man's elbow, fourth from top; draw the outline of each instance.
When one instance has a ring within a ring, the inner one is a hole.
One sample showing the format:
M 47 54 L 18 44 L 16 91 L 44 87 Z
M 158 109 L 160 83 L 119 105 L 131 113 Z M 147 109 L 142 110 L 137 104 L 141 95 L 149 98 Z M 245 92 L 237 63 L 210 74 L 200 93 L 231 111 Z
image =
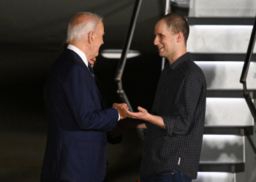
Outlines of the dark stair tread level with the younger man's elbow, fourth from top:
M 253 126 L 205 126 L 204 135 L 253 135 Z

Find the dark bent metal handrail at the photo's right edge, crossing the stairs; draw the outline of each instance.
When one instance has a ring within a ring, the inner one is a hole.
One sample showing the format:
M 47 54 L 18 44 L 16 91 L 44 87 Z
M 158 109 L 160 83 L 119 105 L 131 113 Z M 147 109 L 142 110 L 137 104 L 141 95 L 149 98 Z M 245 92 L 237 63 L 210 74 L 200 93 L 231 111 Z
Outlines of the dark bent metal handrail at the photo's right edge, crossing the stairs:
M 244 98 L 245 98 L 246 103 L 249 106 L 249 110 L 251 111 L 252 116 L 256 122 L 256 108 L 255 108 L 255 105 L 252 103 L 252 98 L 249 95 L 249 92 L 246 87 L 246 77 L 247 77 L 247 74 L 249 71 L 249 63 L 251 62 L 253 49 L 255 47 L 255 40 L 256 40 L 256 17 L 255 17 L 255 23 L 252 28 L 251 38 L 249 40 L 249 46 L 248 46 L 248 49 L 246 52 L 246 58 L 244 60 L 244 67 L 243 67 L 243 70 L 241 73 L 241 78 L 240 78 L 240 82 L 241 82 L 241 84 L 243 84 L 243 87 L 244 87 Z

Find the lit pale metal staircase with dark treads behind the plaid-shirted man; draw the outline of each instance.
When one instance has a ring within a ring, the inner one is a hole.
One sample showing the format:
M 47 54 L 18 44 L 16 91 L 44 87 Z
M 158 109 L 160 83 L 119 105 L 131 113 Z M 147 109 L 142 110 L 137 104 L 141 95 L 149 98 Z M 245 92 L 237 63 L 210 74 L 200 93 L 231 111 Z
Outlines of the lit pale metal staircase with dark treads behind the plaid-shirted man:
M 256 181 L 255 122 L 239 82 L 255 14 L 256 1 L 252 0 L 189 2 L 187 50 L 208 85 L 196 182 Z M 256 63 L 251 63 L 247 87 L 252 101 L 256 98 L 255 74 Z

